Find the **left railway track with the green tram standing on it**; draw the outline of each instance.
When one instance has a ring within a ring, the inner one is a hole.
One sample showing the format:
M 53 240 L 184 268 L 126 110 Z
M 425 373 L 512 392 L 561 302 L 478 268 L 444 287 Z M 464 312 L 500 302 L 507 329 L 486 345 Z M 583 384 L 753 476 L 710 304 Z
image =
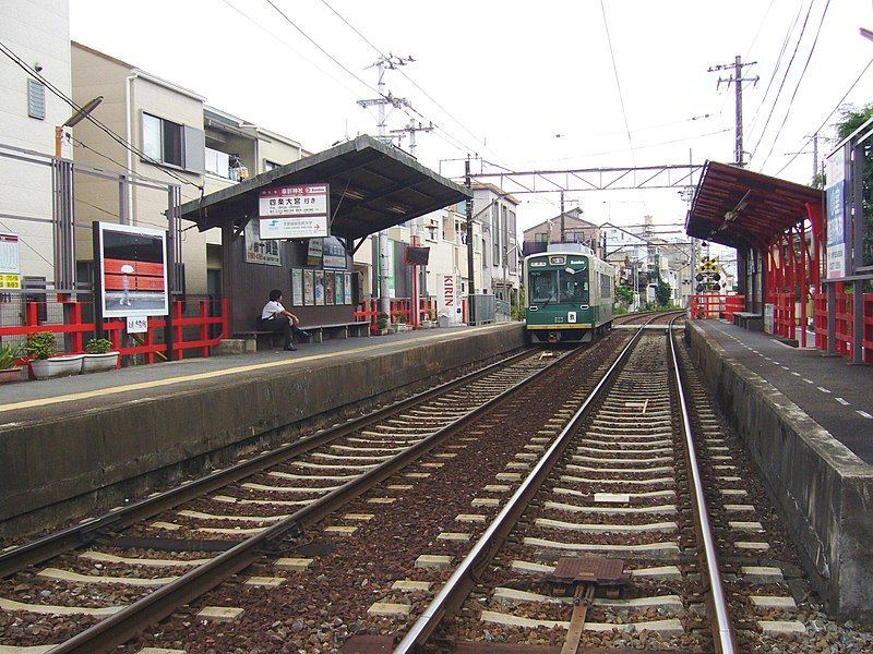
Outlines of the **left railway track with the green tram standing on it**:
M 57 652 L 95 652 L 123 642 L 143 621 L 220 583 L 307 520 L 422 456 L 553 361 L 529 352 L 510 358 L 4 552 L 0 651 L 53 645 Z

